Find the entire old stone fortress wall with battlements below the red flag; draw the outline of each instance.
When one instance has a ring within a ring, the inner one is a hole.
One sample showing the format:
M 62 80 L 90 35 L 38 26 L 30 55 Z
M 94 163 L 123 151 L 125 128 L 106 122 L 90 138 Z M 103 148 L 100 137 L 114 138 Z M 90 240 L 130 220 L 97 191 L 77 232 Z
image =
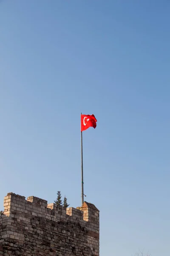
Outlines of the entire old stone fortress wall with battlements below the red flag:
M 0 216 L 0 256 L 99 256 L 99 210 L 67 208 L 8 193 Z

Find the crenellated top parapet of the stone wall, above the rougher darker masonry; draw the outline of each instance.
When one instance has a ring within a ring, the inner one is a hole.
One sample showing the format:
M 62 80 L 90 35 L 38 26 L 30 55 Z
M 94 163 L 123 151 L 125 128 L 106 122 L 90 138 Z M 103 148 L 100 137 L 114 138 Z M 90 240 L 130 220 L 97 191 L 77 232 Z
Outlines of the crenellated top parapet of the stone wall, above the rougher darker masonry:
M 73 222 L 81 222 L 83 226 L 89 227 L 95 232 L 99 232 L 99 210 L 94 204 L 84 202 L 82 207 L 65 208 L 57 204 L 48 204 L 44 199 L 34 196 L 26 198 L 14 193 L 8 193 L 4 198 L 4 212 L 8 217 L 14 215 L 35 215 L 49 220 L 58 221 L 59 219 L 69 220 Z M 24 217 L 24 216 L 23 216 Z

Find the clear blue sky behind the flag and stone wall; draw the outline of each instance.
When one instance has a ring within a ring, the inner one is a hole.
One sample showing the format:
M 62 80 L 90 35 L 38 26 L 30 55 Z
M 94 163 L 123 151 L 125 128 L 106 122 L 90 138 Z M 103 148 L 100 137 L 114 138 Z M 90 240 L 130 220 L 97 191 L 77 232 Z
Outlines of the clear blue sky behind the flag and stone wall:
M 0 205 L 100 210 L 100 255 L 168 255 L 170 1 L 0 0 Z

